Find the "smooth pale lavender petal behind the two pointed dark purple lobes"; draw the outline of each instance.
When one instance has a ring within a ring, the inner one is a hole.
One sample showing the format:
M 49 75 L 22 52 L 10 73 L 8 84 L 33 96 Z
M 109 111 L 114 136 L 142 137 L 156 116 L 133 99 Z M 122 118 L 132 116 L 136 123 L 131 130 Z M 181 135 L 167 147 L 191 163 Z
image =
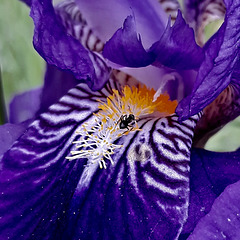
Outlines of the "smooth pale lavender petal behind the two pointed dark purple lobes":
M 114 4 L 111 0 L 76 2 L 89 27 L 102 42 L 109 40 L 126 17 L 134 13 L 138 33 L 143 36 L 143 44 L 150 47 L 158 40 L 167 22 L 166 14 L 154 0 L 121 0 L 114 1 Z

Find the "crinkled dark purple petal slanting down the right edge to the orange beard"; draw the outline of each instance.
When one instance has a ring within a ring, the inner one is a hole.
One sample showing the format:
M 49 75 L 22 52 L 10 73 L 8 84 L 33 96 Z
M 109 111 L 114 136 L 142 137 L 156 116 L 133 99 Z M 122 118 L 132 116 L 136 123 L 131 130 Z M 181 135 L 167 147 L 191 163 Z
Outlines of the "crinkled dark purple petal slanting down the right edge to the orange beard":
M 240 1 L 226 1 L 227 13 L 219 31 L 205 46 L 193 91 L 178 107 L 180 119 L 187 119 L 211 103 L 231 82 L 239 65 Z

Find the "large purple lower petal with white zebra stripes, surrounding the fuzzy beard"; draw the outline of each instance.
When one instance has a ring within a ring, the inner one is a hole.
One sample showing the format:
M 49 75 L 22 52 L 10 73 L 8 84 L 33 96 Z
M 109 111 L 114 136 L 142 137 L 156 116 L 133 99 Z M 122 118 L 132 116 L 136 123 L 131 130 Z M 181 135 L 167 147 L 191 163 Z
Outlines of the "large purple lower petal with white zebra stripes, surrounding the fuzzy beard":
M 123 135 L 114 165 L 67 160 L 75 131 L 95 122 L 118 88 L 80 84 L 39 116 L 1 161 L 2 239 L 177 239 L 187 218 L 189 164 L 198 117 L 146 118 Z

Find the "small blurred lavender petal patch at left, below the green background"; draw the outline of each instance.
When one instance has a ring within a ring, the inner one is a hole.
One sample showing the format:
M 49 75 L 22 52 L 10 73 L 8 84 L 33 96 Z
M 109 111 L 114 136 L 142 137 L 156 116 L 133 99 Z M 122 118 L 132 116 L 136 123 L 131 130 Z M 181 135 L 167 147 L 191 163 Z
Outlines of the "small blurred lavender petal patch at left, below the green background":
M 35 118 L 40 107 L 42 88 L 16 95 L 9 105 L 9 122 L 20 123 Z

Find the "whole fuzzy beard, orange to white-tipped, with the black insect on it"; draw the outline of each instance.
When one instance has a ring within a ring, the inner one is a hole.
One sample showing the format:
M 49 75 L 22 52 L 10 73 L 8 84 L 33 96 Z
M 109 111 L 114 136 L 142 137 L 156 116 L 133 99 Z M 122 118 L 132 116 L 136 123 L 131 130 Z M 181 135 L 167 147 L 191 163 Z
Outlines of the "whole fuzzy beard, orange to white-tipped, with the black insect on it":
M 169 100 L 167 94 L 154 96 L 156 91 L 145 85 L 125 86 L 122 91 L 113 90 L 106 102 L 99 101 L 99 112 L 94 114 L 95 123 L 85 123 L 77 133 L 81 135 L 76 150 L 71 151 L 69 160 L 88 158 L 89 163 L 98 162 L 100 168 L 106 168 L 106 159 L 112 164 L 112 155 L 123 145 L 115 142 L 122 135 L 141 131 L 137 121 L 145 117 L 165 117 L 174 113 L 177 101 Z

